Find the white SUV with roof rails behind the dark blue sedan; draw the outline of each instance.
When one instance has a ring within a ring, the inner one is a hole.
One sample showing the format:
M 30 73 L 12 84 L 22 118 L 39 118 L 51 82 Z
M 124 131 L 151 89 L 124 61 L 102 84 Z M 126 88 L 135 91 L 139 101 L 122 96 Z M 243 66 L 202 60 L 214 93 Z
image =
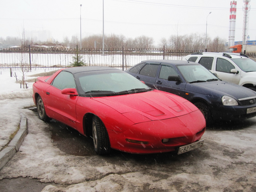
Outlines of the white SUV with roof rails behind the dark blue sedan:
M 200 63 L 219 79 L 256 91 L 256 62 L 239 53 L 195 52 L 185 57 Z

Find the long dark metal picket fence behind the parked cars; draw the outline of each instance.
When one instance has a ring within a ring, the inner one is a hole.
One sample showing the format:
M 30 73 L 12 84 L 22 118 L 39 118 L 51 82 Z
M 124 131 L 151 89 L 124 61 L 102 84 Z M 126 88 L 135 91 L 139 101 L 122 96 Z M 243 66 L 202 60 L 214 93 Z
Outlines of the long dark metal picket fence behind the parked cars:
M 164 49 L 113 49 L 85 50 L 67 48 L 8 48 L 0 49 L 0 68 L 66 68 L 70 67 L 76 54 L 82 55 L 87 66 L 109 66 L 127 69 L 150 59 L 182 60 L 195 51 Z

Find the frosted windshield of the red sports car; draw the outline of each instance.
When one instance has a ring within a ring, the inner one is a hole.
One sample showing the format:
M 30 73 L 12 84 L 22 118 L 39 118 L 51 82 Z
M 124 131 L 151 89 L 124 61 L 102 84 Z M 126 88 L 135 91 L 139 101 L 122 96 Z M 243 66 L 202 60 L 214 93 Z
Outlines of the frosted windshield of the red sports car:
M 79 92 L 81 94 L 106 94 L 148 91 L 150 87 L 121 70 L 102 70 L 95 72 L 80 72 L 76 74 Z

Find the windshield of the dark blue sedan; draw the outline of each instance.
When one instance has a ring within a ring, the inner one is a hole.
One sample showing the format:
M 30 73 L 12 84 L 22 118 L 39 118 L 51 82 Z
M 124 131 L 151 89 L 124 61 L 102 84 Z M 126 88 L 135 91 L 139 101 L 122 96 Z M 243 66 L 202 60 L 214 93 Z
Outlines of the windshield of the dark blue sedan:
M 219 80 L 202 65 L 178 65 L 177 68 L 184 79 L 189 83 Z

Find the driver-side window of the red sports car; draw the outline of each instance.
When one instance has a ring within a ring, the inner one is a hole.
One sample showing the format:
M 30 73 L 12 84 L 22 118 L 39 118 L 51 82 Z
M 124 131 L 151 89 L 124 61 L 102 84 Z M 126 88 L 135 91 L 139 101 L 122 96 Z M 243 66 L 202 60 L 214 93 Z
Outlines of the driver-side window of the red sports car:
M 76 83 L 71 73 L 61 71 L 53 80 L 52 86 L 62 90 L 65 88 L 76 88 Z

